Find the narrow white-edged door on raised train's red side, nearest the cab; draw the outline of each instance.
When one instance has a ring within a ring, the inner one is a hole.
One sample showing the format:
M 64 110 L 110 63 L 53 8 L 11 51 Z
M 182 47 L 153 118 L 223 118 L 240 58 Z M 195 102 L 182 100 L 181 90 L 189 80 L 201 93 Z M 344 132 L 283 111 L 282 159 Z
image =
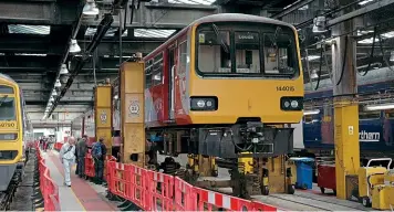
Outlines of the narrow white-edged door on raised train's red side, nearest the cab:
M 168 49 L 168 116 L 175 118 L 175 55 L 176 44 Z

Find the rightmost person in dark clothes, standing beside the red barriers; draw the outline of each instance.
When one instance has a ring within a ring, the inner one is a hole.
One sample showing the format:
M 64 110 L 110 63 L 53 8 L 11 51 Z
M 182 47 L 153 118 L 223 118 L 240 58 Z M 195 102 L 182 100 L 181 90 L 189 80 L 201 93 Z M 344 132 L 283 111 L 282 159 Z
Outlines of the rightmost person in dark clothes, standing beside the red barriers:
M 104 160 L 106 155 L 106 147 L 103 142 L 104 138 L 100 138 L 98 141 L 94 142 L 92 146 L 92 157 L 94 160 L 95 171 L 94 183 L 96 184 L 103 183 Z

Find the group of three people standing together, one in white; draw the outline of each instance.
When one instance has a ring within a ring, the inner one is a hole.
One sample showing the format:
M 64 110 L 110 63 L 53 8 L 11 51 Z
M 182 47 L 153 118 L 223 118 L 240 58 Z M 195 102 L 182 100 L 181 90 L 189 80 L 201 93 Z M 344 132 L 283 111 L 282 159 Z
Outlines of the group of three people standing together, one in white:
M 76 162 L 75 174 L 80 178 L 85 177 L 85 156 L 91 149 L 91 155 L 94 161 L 95 178 L 94 183 L 103 183 L 104 161 L 106 156 L 106 147 L 104 139 L 87 145 L 87 136 L 83 136 L 75 141 L 74 137 L 69 137 L 68 141 L 62 146 L 59 157 L 64 168 L 64 186 L 71 187 L 71 167 Z

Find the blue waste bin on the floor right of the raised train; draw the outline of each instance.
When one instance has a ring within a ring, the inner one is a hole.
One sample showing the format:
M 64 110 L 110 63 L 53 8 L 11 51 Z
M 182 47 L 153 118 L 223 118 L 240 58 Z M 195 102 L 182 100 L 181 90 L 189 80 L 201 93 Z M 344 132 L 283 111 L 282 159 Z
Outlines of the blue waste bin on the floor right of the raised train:
M 291 158 L 297 166 L 297 182 L 296 188 L 312 189 L 313 178 L 313 158 Z

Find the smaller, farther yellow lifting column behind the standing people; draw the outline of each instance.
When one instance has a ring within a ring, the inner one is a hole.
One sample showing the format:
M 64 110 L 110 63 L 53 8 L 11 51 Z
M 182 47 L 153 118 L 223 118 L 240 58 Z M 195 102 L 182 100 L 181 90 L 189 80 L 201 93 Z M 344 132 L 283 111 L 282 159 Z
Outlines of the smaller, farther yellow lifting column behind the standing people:
M 95 139 L 104 138 L 107 156 L 112 156 L 111 92 L 111 84 L 98 85 L 94 91 Z

